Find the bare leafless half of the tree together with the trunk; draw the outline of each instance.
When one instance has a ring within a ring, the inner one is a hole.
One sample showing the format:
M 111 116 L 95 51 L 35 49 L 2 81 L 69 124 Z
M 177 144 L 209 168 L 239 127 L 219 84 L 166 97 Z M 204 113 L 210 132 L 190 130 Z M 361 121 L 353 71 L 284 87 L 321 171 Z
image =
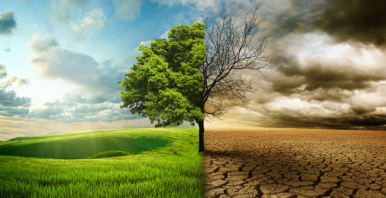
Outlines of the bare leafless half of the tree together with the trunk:
M 265 38 L 254 42 L 257 27 L 264 20 L 257 19 L 257 10 L 256 6 L 242 28 L 233 23 L 231 16 L 223 16 L 206 31 L 206 61 L 200 68 L 204 80 L 205 119 L 221 119 L 235 100 L 246 108 L 247 93 L 257 89 L 252 87 L 252 79 L 243 77 L 242 72 L 260 71 L 276 61 L 266 55 Z M 205 151 L 204 121 L 198 124 L 199 151 Z

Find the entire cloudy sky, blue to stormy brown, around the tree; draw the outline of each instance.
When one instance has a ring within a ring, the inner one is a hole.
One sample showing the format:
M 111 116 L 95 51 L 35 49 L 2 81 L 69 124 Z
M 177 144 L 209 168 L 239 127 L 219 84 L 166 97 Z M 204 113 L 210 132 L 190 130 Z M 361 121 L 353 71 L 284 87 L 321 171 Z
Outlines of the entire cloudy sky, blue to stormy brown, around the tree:
M 386 129 L 384 1 L 18 0 L 0 5 L 0 140 L 152 127 L 118 108 L 138 45 L 206 17 L 241 25 L 255 4 L 279 61 L 245 74 L 251 111 L 208 127 Z

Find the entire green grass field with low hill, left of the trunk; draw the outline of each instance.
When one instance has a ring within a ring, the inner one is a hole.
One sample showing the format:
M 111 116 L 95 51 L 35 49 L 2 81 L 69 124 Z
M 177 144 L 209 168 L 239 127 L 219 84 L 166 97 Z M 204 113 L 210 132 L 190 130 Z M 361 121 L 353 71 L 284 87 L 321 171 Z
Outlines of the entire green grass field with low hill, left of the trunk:
M 202 197 L 201 160 L 197 129 L 20 137 L 0 142 L 0 196 Z

